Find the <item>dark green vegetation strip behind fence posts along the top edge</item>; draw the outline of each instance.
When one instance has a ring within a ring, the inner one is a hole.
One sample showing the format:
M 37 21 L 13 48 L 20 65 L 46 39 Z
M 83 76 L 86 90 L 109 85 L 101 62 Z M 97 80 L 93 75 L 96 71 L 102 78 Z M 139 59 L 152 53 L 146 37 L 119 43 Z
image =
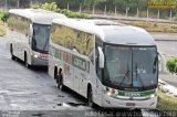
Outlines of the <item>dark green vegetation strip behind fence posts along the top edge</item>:
M 1 4 L 4 4 L 6 0 L 0 0 Z M 32 1 L 32 2 L 31 2 Z M 45 3 L 45 2 L 56 2 L 58 7 L 61 9 L 66 9 L 67 3 L 69 8 L 72 11 L 79 11 L 80 6 L 82 8 L 82 12 L 92 13 L 93 6 L 95 7 L 95 13 L 103 13 L 106 6 L 106 13 L 113 14 L 115 11 L 115 7 L 117 10 L 117 14 L 125 14 L 126 8 L 128 10 L 128 15 L 135 17 L 138 9 L 139 17 L 147 17 L 147 9 L 149 11 L 149 18 L 157 18 L 159 10 L 159 18 L 169 19 L 170 10 L 173 14 L 173 19 L 177 19 L 177 10 L 176 8 L 152 8 L 148 7 L 148 2 L 170 2 L 176 0 L 8 0 L 8 6 L 10 7 L 19 7 L 28 8 L 31 3 Z

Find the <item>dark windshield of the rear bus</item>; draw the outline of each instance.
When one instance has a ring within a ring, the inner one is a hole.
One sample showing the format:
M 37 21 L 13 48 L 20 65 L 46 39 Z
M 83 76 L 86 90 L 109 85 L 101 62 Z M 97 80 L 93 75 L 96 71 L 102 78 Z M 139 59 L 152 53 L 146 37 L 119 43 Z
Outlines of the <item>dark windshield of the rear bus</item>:
M 50 25 L 33 24 L 32 49 L 38 52 L 48 53 Z

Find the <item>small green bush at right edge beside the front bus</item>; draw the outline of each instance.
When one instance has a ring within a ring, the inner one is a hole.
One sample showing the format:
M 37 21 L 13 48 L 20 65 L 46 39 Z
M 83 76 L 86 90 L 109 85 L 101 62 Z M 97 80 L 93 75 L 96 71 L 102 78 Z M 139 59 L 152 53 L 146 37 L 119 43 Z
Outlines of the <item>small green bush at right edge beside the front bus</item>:
M 166 66 L 170 73 L 177 73 L 177 57 L 169 59 Z

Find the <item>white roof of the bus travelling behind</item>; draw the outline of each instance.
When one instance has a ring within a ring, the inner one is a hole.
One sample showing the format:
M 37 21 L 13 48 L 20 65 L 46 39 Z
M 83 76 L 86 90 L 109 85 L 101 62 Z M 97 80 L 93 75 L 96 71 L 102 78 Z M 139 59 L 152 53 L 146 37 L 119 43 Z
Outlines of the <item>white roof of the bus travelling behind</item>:
M 53 19 L 66 18 L 64 14 L 42 9 L 11 9 L 9 10 L 9 13 L 21 15 L 23 18 L 30 19 L 33 23 L 40 24 L 51 24 Z

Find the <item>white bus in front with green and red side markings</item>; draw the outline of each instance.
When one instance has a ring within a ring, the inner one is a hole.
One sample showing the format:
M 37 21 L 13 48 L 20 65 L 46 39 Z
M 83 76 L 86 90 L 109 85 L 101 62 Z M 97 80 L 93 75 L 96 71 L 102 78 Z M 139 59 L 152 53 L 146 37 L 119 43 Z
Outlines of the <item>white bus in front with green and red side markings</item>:
M 158 54 L 140 28 L 105 20 L 54 19 L 49 74 L 88 105 L 156 108 Z

